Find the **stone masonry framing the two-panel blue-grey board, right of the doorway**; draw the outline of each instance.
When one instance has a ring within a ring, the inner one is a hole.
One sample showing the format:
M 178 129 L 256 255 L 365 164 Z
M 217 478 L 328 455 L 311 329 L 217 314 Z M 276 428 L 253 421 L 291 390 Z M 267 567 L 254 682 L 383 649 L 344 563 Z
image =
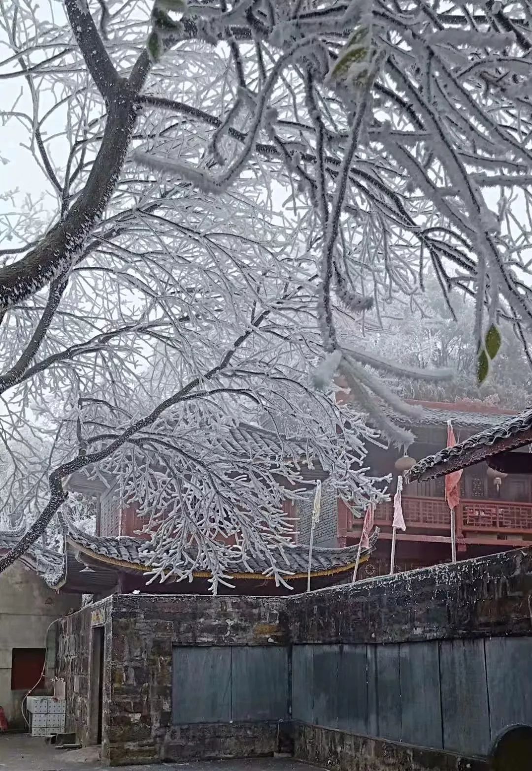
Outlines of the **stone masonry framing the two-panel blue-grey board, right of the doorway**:
M 174 645 L 285 645 L 280 598 L 115 595 L 109 710 L 103 754 L 111 763 L 245 756 L 277 749 L 272 726 L 171 726 Z M 239 738 L 240 737 L 240 738 Z M 260 741 L 258 740 L 260 737 Z

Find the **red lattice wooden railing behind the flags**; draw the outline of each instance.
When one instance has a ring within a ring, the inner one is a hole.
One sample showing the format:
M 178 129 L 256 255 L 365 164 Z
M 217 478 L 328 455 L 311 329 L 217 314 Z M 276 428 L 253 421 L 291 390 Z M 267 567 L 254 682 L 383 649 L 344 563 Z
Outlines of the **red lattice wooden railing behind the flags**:
M 407 528 L 449 530 L 450 511 L 443 498 L 403 497 L 402 512 Z M 393 504 L 381 503 L 375 525 L 391 527 Z M 350 528 L 349 528 L 350 529 Z M 359 527 L 355 524 L 355 530 Z M 456 530 L 477 533 L 532 534 L 532 503 L 500 500 L 463 500 L 456 510 Z

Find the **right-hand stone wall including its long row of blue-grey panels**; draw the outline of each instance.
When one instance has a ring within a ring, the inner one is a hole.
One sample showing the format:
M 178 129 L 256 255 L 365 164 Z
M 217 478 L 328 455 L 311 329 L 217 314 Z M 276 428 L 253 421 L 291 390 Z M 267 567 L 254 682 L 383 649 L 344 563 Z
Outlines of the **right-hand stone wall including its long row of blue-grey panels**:
M 333 771 L 481 769 L 475 758 L 501 729 L 532 725 L 531 550 L 287 606 L 301 759 Z

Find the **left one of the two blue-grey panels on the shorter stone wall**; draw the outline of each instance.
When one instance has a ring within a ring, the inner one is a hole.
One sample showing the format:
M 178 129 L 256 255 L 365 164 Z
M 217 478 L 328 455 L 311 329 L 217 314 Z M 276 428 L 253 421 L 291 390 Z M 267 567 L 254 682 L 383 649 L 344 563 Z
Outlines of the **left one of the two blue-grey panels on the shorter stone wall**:
M 173 725 L 231 720 L 231 648 L 173 648 Z

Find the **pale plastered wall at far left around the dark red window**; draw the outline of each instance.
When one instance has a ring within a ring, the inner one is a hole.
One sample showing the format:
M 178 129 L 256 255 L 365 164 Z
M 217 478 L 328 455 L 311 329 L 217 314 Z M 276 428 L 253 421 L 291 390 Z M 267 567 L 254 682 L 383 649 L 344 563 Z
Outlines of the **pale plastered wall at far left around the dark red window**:
M 52 622 L 77 608 L 79 598 L 57 594 L 20 562 L 0 574 L 0 705 L 10 728 L 24 728 L 21 705 L 29 690 L 11 689 L 13 648 L 47 648 L 45 675 L 51 678 L 56 655 Z

